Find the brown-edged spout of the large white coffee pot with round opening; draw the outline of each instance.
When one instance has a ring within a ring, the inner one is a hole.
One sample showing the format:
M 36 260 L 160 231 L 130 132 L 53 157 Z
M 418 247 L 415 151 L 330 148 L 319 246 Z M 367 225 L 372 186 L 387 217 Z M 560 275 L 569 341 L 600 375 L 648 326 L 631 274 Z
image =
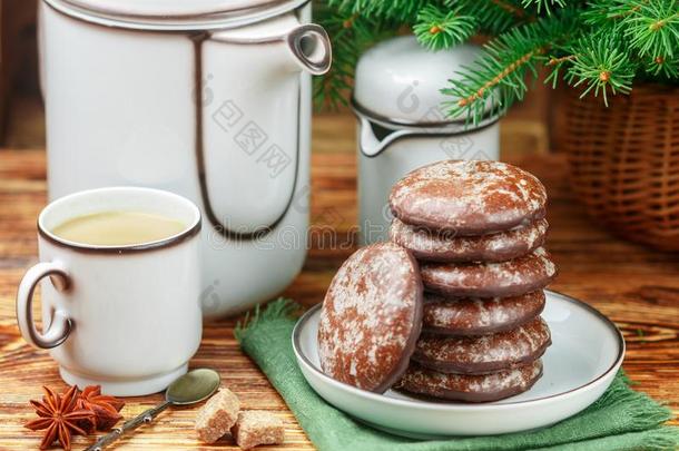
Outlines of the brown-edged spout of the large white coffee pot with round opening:
M 197 43 L 196 161 L 205 216 L 222 236 L 265 236 L 306 184 L 308 73 L 331 67 L 325 30 L 295 14 Z M 215 81 L 210 81 L 215 80 Z

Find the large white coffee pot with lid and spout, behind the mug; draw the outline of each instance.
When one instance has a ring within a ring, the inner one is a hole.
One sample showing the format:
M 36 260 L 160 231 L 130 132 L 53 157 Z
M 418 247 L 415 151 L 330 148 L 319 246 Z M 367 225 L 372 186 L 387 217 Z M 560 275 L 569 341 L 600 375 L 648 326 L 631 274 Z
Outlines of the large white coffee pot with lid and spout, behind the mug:
M 105 186 L 201 207 L 204 314 L 284 290 L 306 255 L 311 73 L 329 69 L 308 0 L 43 0 L 55 199 Z

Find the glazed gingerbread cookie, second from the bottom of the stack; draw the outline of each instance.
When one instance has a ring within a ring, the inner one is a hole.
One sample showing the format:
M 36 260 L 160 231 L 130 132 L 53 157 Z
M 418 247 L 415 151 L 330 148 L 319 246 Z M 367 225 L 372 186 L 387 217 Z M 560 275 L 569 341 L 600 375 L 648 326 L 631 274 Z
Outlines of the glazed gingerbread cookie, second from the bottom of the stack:
M 484 374 L 538 360 L 551 344 L 547 323 L 537 317 L 518 329 L 482 336 L 425 334 L 413 360 L 442 373 Z

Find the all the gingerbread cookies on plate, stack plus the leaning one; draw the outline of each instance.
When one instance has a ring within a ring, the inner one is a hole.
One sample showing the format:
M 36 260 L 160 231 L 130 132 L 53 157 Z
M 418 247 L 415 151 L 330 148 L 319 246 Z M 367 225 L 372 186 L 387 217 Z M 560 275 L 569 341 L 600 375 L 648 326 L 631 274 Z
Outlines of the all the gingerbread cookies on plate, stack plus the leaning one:
M 323 372 L 470 402 L 528 390 L 551 343 L 545 197 L 535 177 L 496 161 L 437 163 L 398 182 L 392 241 L 356 251 L 325 295 Z

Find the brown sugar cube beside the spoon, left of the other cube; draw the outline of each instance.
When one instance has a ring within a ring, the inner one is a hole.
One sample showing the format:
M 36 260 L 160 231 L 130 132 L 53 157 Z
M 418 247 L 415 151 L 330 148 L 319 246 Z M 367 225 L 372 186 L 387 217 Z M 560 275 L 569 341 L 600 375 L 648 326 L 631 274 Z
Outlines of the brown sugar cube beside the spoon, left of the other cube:
M 238 420 L 240 401 L 228 389 L 220 389 L 196 415 L 196 432 L 205 443 L 214 443 Z

